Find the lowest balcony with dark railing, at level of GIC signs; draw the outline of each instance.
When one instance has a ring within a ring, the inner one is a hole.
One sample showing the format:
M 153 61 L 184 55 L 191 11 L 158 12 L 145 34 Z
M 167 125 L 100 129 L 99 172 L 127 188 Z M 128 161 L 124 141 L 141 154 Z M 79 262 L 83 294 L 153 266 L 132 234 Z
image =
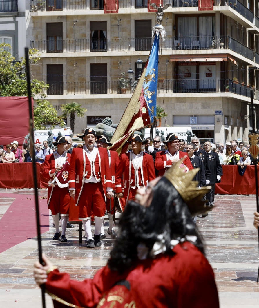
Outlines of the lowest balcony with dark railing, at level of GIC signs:
M 133 83 L 132 83 L 133 84 Z M 250 97 L 252 87 L 231 79 L 166 79 L 157 84 L 157 93 L 216 93 L 231 92 Z M 134 87 L 128 83 L 126 89 L 119 81 L 53 82 L 49 83 L 47 95 L 75 94 L 131 94 Z

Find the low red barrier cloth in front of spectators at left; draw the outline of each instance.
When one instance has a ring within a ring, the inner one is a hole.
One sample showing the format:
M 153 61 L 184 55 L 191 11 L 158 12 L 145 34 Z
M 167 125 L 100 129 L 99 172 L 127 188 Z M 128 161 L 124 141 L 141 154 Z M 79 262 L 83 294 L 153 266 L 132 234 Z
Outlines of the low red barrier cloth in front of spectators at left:
M 47 180 L 40 177 L 40 164 L 37 168 L 37 187 L 47 188 Z M 34 188 L 32 163 L 0 164 L 0 188 Z

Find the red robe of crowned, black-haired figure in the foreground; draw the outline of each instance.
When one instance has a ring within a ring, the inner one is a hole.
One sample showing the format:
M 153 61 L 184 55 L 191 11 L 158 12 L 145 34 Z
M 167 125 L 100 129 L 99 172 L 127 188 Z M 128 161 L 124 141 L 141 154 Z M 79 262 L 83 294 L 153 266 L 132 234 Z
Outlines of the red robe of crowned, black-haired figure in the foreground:
M 99 303 L 98 307 L 113 308 L 219 308 L 214 273 L 204 255 L 190 242 L 176 245 L 173 251 L 174 256 L 138 260 L 123 274 L 106 265 L 93 279 L 83 281 L 54 270 L 48 274 L 46 290 L 80 307 Z M 53 303 L 55 308 L 67 307 Z

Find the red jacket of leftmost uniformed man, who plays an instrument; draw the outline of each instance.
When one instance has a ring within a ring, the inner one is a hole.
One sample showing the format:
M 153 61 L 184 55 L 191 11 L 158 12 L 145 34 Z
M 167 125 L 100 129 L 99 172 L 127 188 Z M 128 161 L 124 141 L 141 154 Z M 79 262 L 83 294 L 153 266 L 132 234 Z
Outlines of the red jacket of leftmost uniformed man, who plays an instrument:
M 71 154 L 67 153 L 68 163 L 70 163 L 70 159 L 71 159 Z M 56 166 L 57 166 L 57 162 L 55 161 L 54 154 L 47 155 L 45 157 L 44 162 L 40 166 L 41 176 L 43 176 L 45 179 L 48 179 L 49 181 L 51 181 L 54 174 L 55 174 Z M 67 180 L 67 186 L 66 187 L 68 187 L 68 180 Z M 47 204 L 49 204 L 49 202 L 51 200 L 51 193 L 52 193 L 53 188 L 54 188 L 53 186 L 48 185 L 48 203 Z

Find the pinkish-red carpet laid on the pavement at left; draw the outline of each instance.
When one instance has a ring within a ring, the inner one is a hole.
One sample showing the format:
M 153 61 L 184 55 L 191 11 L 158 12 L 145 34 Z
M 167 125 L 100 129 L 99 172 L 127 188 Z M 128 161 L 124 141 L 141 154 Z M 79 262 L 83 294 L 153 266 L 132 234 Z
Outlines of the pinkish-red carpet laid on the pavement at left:
M 0 193 L 0 197 L 15 198 L 0 220 L 0 253 L 37 236 L 33 195 Z M 49 230 L 47 199 L 39 201 L 41 234 Z

